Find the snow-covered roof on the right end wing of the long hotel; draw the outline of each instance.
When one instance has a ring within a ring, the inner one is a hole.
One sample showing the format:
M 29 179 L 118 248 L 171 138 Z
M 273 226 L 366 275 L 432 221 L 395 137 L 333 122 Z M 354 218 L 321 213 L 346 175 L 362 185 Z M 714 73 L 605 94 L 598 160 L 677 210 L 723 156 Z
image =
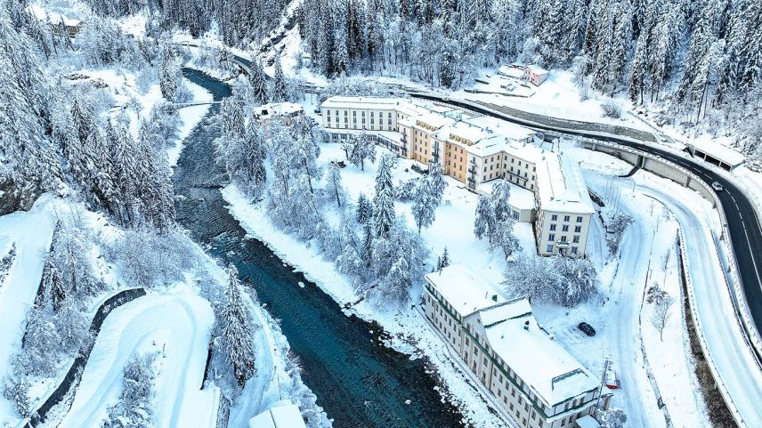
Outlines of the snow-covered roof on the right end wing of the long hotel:
M 563 154 L 546 152 L 544 161 L 537 165 L 537 187 L 539 206 L 543 210 L 572 214 L 596 212 L 580 166 Z

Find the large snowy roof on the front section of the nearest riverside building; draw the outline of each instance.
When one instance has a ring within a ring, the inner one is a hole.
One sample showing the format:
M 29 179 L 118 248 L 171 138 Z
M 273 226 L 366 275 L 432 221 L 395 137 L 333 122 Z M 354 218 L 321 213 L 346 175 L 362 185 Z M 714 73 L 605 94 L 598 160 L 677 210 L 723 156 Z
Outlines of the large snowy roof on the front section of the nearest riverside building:
M 492 350 L 549 406 L 598 387 L 599 379 L 552 340 L 533 315 L 485 327 Z

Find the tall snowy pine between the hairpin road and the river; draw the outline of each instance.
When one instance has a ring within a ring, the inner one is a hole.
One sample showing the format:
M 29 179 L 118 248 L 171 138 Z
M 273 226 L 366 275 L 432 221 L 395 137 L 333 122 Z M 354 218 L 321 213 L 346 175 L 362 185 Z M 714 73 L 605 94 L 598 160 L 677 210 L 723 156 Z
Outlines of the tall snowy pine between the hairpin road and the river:
M 225 288 L 227 302 L 223 305 L 221 318 L 225 355 L 231 364 L 233 376 L 240 386 L 254 376 L 254 331 L 252 314 L 243 299 L 238 270 L 228 267 L 228 286 Z

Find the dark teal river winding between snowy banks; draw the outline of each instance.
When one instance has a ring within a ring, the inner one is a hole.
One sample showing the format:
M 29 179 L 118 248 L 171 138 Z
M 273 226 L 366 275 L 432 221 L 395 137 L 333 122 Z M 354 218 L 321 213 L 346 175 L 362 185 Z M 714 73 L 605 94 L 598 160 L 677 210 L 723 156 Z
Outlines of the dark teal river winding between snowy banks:
M 213 93 L 215 101 L 231 94 L 228 85 L 213 77 L 193 69 L 183 73 Z M 207 117 L 217 109 L 209 109 Z M 186 139 L 175 168 L 178 222 L 190 230 L 191 238 L 207 246 L 209 254 L 235 264 L 241 279 L 255 288 L 267 310 L 280 319 L 283 334 L 304 367 L 304 384 L 334 419 L 334 426 L 463 426 L 458 409 L 443 403 L 434 390 L 438 383 L 426 374 L 425 359 L 410 359 L 380 343 L 379 326 L 346 316 L 320 287 L 262 242 L 247 237 L 220 193 L 223 174 L 215 166 L 215 135 L 204 126 L 206 121 Z

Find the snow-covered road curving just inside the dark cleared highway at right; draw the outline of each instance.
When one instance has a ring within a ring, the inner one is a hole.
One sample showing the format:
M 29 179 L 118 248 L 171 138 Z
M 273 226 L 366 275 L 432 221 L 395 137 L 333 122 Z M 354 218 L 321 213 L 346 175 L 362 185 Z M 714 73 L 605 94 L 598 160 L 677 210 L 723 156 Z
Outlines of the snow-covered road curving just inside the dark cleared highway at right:
M 664 202 L 677 216 L 685 235 L 685 251 L 691 262 L 688 275 L 693 282 L 693 292 L 698 303 L 701 330 L 712 349 L 723 384 L 733 397 L 735 406 L 744 416 L 749 427 L 762 426 L 762 374 L 755 369 L 739 370 L 738 367 L 757 367 L 746 345 L 742 328 L 734 314 L 717 251 L 713 244 L 711 226 L 717 229 L 713 213 L 701 213 L 695 202 L 686 200 L 682 193 L 667 192 L 658 186 L 640 182 L 638 189 Z M 695 198 L 699 198 L 695 195 Z

